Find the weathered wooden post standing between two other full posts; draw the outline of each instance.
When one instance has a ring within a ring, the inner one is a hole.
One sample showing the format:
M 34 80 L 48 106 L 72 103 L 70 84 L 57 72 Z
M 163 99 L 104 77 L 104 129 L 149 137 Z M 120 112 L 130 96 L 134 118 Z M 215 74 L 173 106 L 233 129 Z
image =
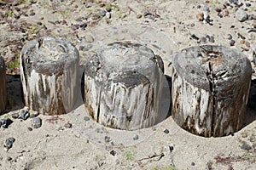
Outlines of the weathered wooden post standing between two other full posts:
M 107 127 L 135 130 L 159 117 L 163 62 L 137 43 L 113 42 L 87 60 L 84 105 Z

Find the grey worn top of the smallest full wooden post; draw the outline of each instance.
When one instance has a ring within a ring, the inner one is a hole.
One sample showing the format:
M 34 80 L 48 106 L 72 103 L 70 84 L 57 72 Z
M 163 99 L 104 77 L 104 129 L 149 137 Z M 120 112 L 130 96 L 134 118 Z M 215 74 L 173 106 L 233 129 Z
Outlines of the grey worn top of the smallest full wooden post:
M 79 59 L 78 50 L 67 40 L 44 37 L 27 42 L 21 50 L 27 72 L 35 70 L 47 76 L 62 73 L 69 62 Z M 53 65 L 54 63 L 54 65 Z

